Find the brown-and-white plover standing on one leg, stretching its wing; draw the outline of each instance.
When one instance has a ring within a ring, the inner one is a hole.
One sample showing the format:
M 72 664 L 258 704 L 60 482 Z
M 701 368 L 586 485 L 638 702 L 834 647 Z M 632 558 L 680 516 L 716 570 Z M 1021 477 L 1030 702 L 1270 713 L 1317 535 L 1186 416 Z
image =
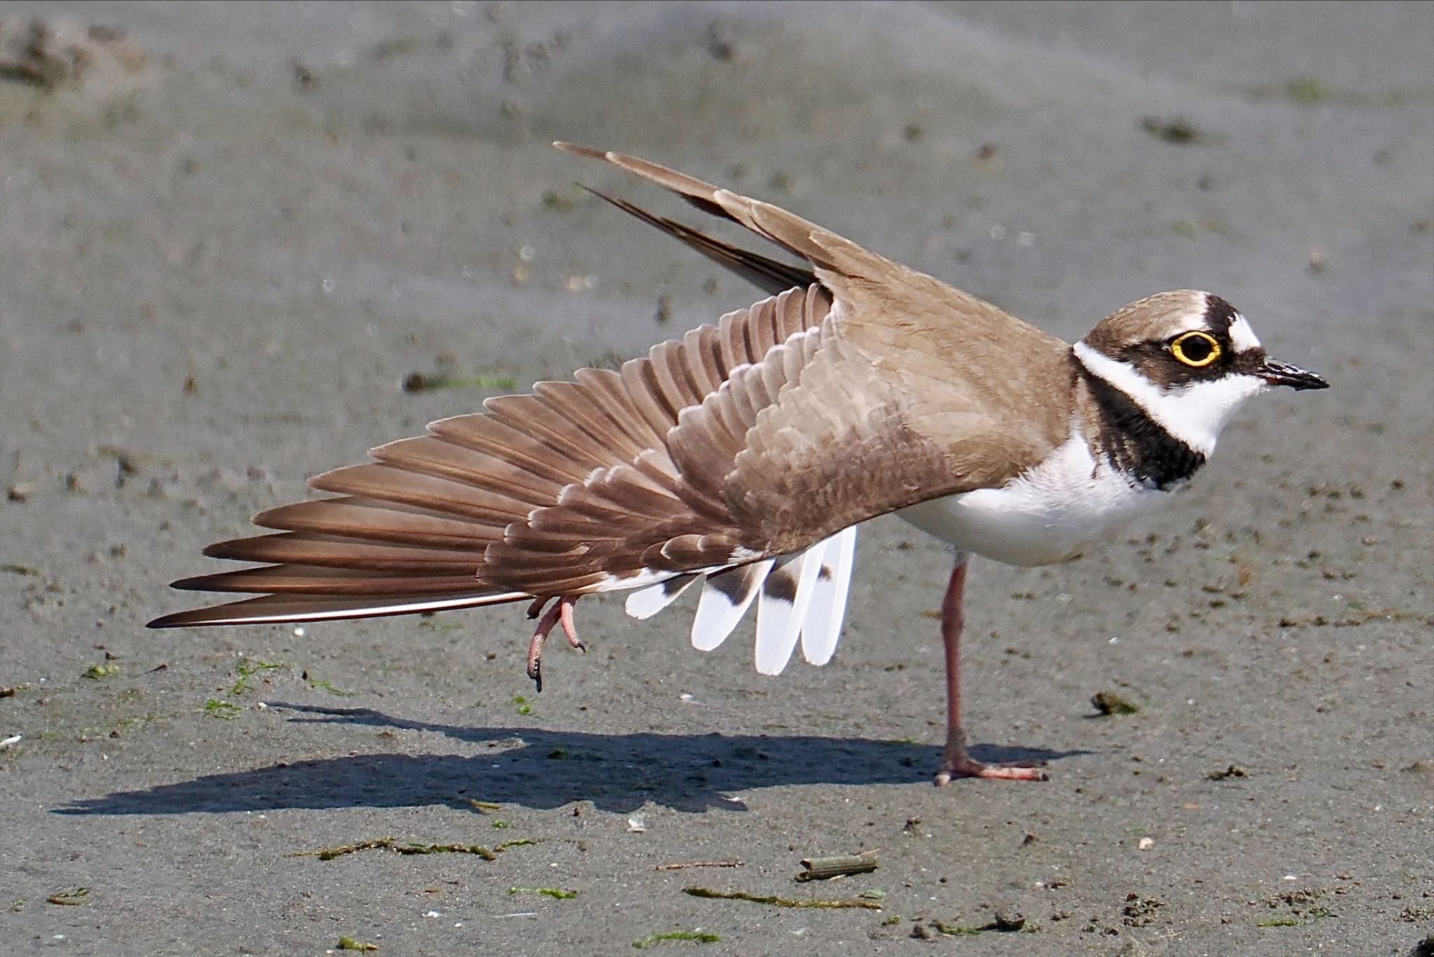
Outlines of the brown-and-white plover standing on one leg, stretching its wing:
M 736 222 L 776 258 L 594 189 L 750 281 L 764 298 L 618 370 L 579 369 L 317 475 L 331 496 L 258 514 L 268 534 L 205 555 L 250 567 L 182 578 L 257 597 L 149 627 L 297 623 L 529 601 L 528 676 L 578 637 L 574 605 L 627 591 L 647 618 L 693 585 L 691 643 L 720 646 L 756 604 L 756 667 L 842 634 L 856 527 L 896 514 L 948 542 L 941 608 L 956 778 L 1047 779 L 971 756 L 961 633 L 971 555 L 1071 558 L 1163 508 L 1249 397 L 1325 389 L 1271 359 L 1226 300 L 1157 293 L 1067 343 L 780 207 L 635 156 L 554 143 Z

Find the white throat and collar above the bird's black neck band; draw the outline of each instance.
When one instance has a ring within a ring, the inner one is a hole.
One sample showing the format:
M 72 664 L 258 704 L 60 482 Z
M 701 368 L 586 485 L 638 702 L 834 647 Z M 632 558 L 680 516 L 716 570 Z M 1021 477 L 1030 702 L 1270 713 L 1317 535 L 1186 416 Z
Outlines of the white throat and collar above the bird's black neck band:
M 1215 452 L 1215 440 L 1230 413 L 1250 396 L 1269 389 L 1263 379 L 1245 373 L 1162 389 L 1130 363 L 1111 359 L 1083 341 L 1076 343 L 1073 350 L 1090 374 L 1126 393 L 1166 432 L 1206 458 Z

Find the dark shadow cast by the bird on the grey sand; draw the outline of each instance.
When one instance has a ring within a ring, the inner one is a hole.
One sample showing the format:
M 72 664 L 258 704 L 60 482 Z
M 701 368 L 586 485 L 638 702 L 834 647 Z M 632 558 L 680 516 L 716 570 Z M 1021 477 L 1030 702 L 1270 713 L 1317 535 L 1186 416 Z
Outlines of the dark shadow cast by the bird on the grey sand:
M 460 727 L 367 707 L 270 703 L 305 723 L 439 732 L 492 749 L 459 755 L 354 755 L 205 775 L 145 791 L 85 798 L 56 814 L 191 814 L 282 808 L 410 808 L 473 801 L 558 808 L 591 801 L 627 812 L 645 802 L 677 811 L 743 811 L 730 795 L 776 785 L 929 782 L 941 749 L 899 740 L 766 735 L 595 735 L 533 727 Z M 1047 762 L 1087 752 L 971 749 L 978 760 Z

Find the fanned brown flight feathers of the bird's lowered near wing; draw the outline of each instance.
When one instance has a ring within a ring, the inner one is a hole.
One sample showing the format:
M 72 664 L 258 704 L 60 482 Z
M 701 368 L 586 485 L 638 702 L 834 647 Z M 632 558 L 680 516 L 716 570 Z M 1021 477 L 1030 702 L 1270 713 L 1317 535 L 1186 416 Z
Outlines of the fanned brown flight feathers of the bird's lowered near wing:
M 737 373 L 751 418 L 787 370 L 743 374 L 817 340 L 830 297 L 790 290 L 655 346 L 621 372 L 584 369 L 442 419 L 367 465 L 311 479 L 337 498 L 261 512 L 280 534 L 218 542 L 264 562 L 174 583 L 258 598 L 165 616 L 152 627 L 403 614 L 631 588 L 731 562 L 740 529 L 667 449 L 683 410 Z M 796 364 L 792 366 L 794 372 Z M 740 426 L 739 426 L 740 428 Z M 665 551 L 665 554 L 664 554 Z

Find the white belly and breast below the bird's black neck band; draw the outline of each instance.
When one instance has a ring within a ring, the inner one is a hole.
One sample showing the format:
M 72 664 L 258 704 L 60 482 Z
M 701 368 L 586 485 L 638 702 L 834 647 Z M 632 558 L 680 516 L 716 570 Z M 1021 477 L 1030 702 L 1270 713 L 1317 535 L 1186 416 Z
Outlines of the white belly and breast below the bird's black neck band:
M 1133 486 L 1074 435 L 1044 462 L 1001 488 L 921 502 L 896 512 L 961 551 L 1010 565 L 1070 558 L 1169 492 Z

